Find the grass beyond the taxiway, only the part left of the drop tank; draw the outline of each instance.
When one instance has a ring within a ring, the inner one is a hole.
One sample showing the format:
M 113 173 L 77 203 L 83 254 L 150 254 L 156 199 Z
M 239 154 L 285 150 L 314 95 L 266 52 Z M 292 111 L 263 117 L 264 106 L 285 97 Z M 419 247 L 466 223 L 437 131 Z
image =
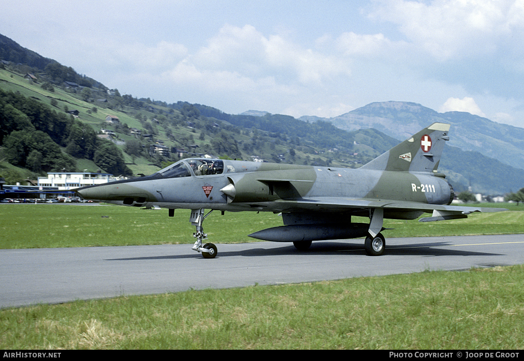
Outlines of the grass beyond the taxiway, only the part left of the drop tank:
M 193 243 L 189 210 L 74 204 L 0 205 L 0 248 L 134 246 Z M 274 214 L 219 211 L 204 221 L 210 241 L 241 243 L 254 231 L 280 226 Z

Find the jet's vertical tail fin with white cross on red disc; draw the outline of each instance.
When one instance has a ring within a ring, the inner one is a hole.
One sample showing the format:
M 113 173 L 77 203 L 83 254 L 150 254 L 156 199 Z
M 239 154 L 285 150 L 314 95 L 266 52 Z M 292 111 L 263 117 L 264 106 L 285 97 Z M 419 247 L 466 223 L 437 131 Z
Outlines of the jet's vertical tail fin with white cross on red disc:
M 433 123 L 362 166 L 378 171 L 433 172 L 439 166 L 450 124 Z

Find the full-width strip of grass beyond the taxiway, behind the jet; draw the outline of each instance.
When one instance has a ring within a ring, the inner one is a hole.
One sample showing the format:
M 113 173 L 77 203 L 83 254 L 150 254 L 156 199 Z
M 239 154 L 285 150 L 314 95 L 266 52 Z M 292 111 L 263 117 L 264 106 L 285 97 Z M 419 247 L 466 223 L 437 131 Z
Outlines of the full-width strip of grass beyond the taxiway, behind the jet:
M 417 220 L 386 219 L 386 238 L 524 233 L 524 207 L 474 213 L 467 219 L 422 223 Z M 85 206 L 75 204 L 0 205 L 0 248 L 56 248 L 90 246 L 133 246 L 193 243 L 194 227 L 189 210 Z M 354 217 L 353 221 L 369 222 Z M 282 225 L 280 216 L 260 212 L 213 212 L 204 230 L 213 243 L 254 242 L 255 231 Z

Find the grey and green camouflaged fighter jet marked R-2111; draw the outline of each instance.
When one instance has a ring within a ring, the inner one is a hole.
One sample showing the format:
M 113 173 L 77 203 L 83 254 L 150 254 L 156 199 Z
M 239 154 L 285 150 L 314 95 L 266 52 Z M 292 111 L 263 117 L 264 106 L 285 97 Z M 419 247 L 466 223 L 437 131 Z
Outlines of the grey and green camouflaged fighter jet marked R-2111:
M 84 199 L 132 207 L 191 209 L 196 227 L 193 250 L 214 258 L 204 219 L 213 211 L 268 211 L 280 214 L 283 226 L 249 237 L 293 242 L 300 250 L 312 241 L 364 237 L 369 256 L 384 254 L 384 218 L 422 222 L 466 218 L 472 212 L 501 208 L 450 206 L 453 187 L 437 167 L 450 124 L 433 123 L 408 140 L 357 168 L 318 167 L 188 158 L 149 176 L 77 189 Z M 209 213 L 205 214 L 205 209 Z M 369 224 L 352 222 L 369 217 Z

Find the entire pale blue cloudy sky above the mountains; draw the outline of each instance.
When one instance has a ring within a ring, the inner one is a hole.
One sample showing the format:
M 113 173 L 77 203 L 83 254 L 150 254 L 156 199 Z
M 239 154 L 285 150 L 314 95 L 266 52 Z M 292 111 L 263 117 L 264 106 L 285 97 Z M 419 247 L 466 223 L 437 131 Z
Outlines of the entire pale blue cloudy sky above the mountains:
M 138 98 L 328 118 L 410 101 L 524 127 L 524 0 L 3 0 L 0 34 Z

